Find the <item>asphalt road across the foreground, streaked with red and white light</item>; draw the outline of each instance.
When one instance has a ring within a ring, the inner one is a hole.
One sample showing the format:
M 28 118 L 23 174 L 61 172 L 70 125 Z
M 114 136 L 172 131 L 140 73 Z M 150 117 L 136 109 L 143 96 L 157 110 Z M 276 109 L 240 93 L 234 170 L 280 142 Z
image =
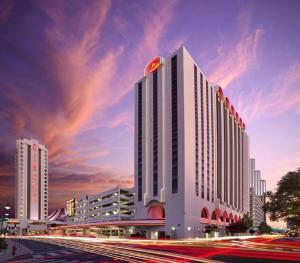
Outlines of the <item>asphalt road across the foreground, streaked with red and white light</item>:
M 110 240 L 30 237 L 33 254 L 14 262 L 300 262 L 300 240 Z

